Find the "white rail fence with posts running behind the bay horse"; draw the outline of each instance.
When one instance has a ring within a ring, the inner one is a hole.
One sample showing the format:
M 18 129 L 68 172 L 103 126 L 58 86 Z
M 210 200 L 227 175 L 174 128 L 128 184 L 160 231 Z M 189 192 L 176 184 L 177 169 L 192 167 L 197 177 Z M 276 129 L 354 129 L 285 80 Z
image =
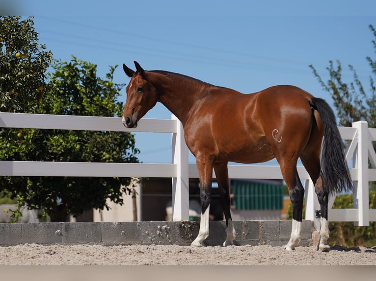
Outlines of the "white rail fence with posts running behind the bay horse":
M 172 178 L 173 219 L 188 219 L 188 178 L 198 178 L 195 164 L 188 164 L 188 148 L 183 127 L 176 117 L 172 119 L 141 119 L 135 129 L 126 129 L 120 118 L 0 113 L 0 127 L 93 131 L 132 131 L 172 134 L 172 164 L 139 163 L 72 163 L 0 161 L 0 176 L 80 176 L 80 177 L 160 177 Z M 355 183 L 354 209 L 331 209 L 335 197 L 329 198 L 330 221 L 353 221 L 368 226 L 376 221 L 376 209 L 369 209 L 369 181 L 376 181 L 376 154 L 372 141 L 376 129 L 367 122 L 354 122 L 352 127 L 339 127 L 344 140 L 350 140 L 346 158 Z M 368 167 L 369 160 L 372 168 Z M 304 167 L 298 167 L 304 181 L 306 219 L 320 223 L 315 210 L 320 209 L 313 184 Z M 215 177 L 215 173 L 213 172 Z M 233 179 L 283 179 L 279 166 L 229 165 Z

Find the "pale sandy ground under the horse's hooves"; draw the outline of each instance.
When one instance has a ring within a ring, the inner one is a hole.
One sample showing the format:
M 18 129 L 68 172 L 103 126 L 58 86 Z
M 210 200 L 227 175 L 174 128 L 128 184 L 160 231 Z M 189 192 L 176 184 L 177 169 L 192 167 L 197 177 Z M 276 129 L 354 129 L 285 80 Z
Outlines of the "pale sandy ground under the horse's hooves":
M 316 247 L 176 245 L 103 246 L 24 244 L 0 247 L 0 265 L 376 265 L 376 247 L 334 246 L 328 253 Z

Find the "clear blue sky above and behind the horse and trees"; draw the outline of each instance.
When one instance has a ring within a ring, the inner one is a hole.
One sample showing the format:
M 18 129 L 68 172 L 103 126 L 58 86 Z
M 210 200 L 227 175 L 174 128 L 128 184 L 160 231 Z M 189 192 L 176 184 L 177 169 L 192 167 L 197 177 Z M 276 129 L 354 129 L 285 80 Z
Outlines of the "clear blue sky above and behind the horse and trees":
M 329 60 L 339 59 L 364 85 L 375 58 L 368 27 L 376 27 L 376 1 L 21 1 L 23 15 L 34 15 L 40 43 L 56 59 L 71 54 L 98 65 L 104 77 L 119 65 L 114 80 L 128 83 L 122 63 L 145 70 L 169 70 L 205 82 L 253 93 L 291 84 L 326 99 L 308 67 L 324 80 Z M 122 100 L 125 101 L 125 89 Z M 146 118 L 170 118 L 161 104 Z M 153 141 L 151 141 L 153 140 Z M 171 136 L 136 134 L 144 163 L 170 163 Z M 189 161 L 194 163 L 193 156 Z

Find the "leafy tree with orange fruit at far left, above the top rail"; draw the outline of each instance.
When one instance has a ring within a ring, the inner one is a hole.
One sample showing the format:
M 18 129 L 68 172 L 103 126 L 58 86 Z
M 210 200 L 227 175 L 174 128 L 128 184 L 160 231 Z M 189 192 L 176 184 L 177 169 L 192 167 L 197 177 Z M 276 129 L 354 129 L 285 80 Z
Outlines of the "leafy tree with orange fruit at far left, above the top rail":
M 0 16 L 0 111 L 33 112 L 46 87 L 52 52 L 38 43 L 33 17 Z

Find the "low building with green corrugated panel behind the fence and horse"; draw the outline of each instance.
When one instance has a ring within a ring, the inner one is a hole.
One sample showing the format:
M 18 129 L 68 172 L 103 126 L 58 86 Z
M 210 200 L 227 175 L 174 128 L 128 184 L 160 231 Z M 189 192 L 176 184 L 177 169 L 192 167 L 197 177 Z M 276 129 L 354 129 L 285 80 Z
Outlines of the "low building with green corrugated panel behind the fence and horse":
M 135 188 L 136 197 L 124 195 L 122 206 L 108 202 L 110 210 L 94 210 L 76 221 L 164 221 L 172 219 L 171 178 L 147 178 Z M 284 219 L 284 187 L 281 180 L 230 180 L 231 213 L 237 220 Z M 189 179 L 189 219 L 200 217 L 199 179 Z M 289 201 L 288 201 L 289 202 Z M 288 205 L 287 205 L 288 207 Z M 223 220 L 217 183 L 213 182 L 212 220 Z M 285 207 L 286 209 L 286 207 Z M 287 209 L 286 209 L 287 211 Z M 286 212 L 285 211 L 285 212 Z M 90 218 L 90 215 L 92 218 Z M 83 218 L 85 216 L 85 218 Z

